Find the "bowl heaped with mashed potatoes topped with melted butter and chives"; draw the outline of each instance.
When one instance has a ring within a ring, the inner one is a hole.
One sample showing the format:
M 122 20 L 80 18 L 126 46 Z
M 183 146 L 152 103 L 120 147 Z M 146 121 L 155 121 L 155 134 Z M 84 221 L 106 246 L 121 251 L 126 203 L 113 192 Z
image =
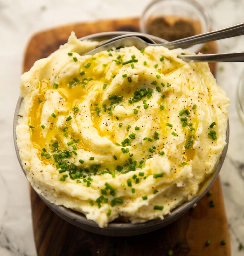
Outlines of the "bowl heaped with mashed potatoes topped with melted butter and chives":
M 21 76 L 16 152 L 31 186 L 65 220 L 141 234 L 182 216 L 214 182 L 229 99 L 207 63 L 177 58 L 187 50 L 83 55 L 98 45 L 72 32 Z

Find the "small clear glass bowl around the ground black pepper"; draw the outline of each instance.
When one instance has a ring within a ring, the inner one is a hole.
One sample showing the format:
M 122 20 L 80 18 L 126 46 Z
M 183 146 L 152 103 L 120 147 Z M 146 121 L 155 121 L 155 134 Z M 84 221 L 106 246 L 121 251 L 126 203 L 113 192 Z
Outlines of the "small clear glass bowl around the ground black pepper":
M 210 31 L 210 18 L 207 11 L 194 0 L 154 0 L 144 9 L 141 15 L 141 32 L 150 34 L 148 23 L 157 17 L 164 18 L 169 26 L 176 25 L 177 20 L 188 21 L 195 29 L 193 35 Z M 177 28 L 180 30 L 180 24 L 177 25 Z M 167 38 L 163 39 L 167 40 Z M 198 52 L 202 46 L 203 44 L 193 45 L 188 50 Z

